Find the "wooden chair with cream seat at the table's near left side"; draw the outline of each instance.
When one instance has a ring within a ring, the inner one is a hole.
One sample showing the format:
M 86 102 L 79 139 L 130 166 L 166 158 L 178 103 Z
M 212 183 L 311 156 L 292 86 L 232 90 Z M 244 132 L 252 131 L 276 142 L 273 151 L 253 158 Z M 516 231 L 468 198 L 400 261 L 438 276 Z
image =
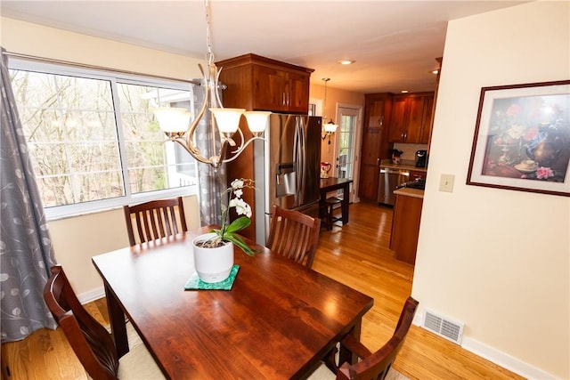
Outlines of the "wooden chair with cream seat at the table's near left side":
M 44 300 L 77 358 L 94 379 L 165 378 L 144 344 L 130 347 L 118 358 L 109 331 L 85 310 L 61 265 L 53 266 L 44 287 Z M 120 365 L 119 365 L 120 364 Z

